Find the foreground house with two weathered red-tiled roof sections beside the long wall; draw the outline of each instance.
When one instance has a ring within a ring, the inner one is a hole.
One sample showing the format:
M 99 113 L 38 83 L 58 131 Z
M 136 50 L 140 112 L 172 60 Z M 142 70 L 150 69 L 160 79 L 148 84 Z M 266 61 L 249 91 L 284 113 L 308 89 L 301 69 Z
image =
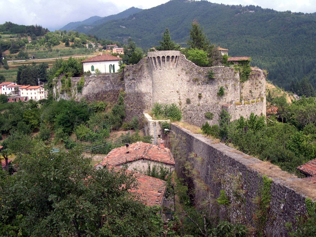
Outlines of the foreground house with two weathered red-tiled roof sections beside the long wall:
M 164 167 L 169 167 L 170 170 L 174 167 L 175 162 L 170 150 L 164 147 L 163 142 L 159 144 L 159 146 L 143 142 L 125 144 L 125 146 L 110 151 L 95 167 L 118 171 L 123 165 L 127 165 L 127 172 L 132 172 L 137 179 L 137 188 L 131 191 L 140 194 L 144 204 L 161 206 L 167 189 L 167 182 L 133 172 L 134 168 L 147 167 L 148 163 L 151 166 L 161 164 Z

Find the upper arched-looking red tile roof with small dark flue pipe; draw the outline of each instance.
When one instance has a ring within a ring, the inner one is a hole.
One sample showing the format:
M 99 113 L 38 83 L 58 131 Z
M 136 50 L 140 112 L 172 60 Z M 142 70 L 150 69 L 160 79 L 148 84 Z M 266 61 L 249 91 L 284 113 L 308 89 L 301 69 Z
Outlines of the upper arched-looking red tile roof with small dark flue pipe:
M 101 161 L 100 165 L 122 165 L 128 162 L 145 159 L 149 161 L 161 162 L 168 165 L 174 165 L 173 156 L 168 148 L 159 148 L 159 146 L 137 142 L 129 145 L 129 153 L 126 153 L 126 147 L 115 148 L 110 151 Z

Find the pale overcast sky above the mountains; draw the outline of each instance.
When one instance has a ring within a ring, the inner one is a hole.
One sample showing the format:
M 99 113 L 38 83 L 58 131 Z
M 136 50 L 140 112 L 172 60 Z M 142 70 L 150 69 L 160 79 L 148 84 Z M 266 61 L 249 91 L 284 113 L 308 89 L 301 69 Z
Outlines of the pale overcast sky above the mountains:
M 42 25 L 50 30 L 90 16 L 117 14 L 130 7 L 148 9 L 168 0 L 0 0 L 0 23 Z M 315 0 L 212 0 L 213 3 L 258 5 L 278 11 L 316 12 Z

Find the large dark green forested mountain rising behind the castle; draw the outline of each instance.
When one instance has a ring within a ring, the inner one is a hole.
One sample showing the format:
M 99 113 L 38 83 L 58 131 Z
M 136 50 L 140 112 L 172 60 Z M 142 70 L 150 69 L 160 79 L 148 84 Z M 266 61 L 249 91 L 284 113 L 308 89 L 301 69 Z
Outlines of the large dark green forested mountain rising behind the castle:
M 212 43 L 228 48 L 230 56 L 251 56 L 252 65 L 267 69 L 273 83 L 292 91 L 291 82 L 307 76 L 316 87 L 315 14 L 172 0 L 97 25 L 87 33 L 120 42 L 131 37 L 141 47 L 152 47 L 168 27 L 176 43 L 185 43 L 193 19 L 204 27 Z

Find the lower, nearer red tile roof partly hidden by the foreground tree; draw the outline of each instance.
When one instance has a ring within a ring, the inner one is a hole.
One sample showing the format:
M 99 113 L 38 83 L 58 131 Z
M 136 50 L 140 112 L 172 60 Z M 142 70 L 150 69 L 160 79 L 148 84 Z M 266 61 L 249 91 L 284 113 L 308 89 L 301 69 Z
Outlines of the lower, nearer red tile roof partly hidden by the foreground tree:
M 106 166 L 108 169 L 119 171 L 121 168 L 117 166 Z M 147 206 L 161 206 L 163 197 L 167 189 L 167 182 L 162 179 L 150 177 L 145 174 L 135 173 L 130 170 L 126 170 L 128 173 L 133 173 L 137 179 L 137 188 L 132 188 L 131 192 L 140 195 L 141 201 Z

